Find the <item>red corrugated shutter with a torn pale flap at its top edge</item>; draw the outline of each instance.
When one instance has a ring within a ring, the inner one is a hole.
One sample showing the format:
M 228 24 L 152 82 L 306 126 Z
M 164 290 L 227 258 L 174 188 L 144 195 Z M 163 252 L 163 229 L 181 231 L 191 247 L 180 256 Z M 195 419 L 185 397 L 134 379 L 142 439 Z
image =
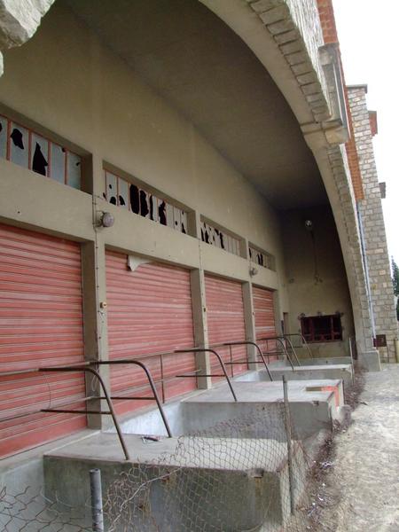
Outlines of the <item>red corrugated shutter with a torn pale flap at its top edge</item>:
M 106 253 L 106 289 L 109 356 L 137 358 L 153 374 L 154 380 L 167 379 L 158 386 L 163 399 L 181 395 L 196 388 L 196 379 L 173 379 L 176 374 L 193 372 L 192 354 L 145 356 L 146 354 L 191 348 L 194 345 L 192 292 L 190 271 L 161 263 L 144 263 L 136 270 L 128 269 L 126 254 Z M 131 387 L 146 385 L 142 370 L 129 366 L 112 369 L 112 390 L 124 392 Z M 149 394 L 147 387 L 144 393 Z M 135 392 L 135 395 L 138 395 Z M 144 403 L 117 404 L 127 412 Z

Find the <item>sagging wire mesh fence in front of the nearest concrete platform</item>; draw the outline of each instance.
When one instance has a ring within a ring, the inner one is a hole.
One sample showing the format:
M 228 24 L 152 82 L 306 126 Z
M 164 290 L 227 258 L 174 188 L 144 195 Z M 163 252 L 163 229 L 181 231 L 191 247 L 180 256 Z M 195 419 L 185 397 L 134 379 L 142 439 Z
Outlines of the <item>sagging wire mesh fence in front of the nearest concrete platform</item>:
M 239 416 L 200 432 L 171 440 L 144 436 L 143 442 L 151 459 L 133 458 L 115 463 L 111 476 L 104 472 L 105 532 L 314 529 L 317 446 L 301 441 L 284 402 L 248 403 Z M 77 507 L 63 502 L 61 492 L 49 498 L 44 489 L 3 489 L 0 530 L 103 528 L 93 527 L 90 496 Z

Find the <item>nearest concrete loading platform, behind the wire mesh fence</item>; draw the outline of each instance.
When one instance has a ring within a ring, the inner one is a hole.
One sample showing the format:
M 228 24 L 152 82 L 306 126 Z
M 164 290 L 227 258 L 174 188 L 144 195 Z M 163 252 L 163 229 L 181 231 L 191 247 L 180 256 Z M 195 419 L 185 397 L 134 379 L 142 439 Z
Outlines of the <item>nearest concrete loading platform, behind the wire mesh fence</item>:
M 132 497 L 121 510 L 129 519 L 137 516 L 137 529 L 141 524 L 145 530 L 190 530 L 190 508 L 195 502 L 201 530 L 215 530 L 215 525 L 220 525 L 221 530 L 231 532 L 262 530 L 260 525 L 280 530 L 290 518 L 291 497 L 294 505 L 303 497 L 308 465 L 299 442 L 293 442 L 291 490 L 286 442 L 226 438 L 221 445 L 221 438 L 198 437 L 146 442 L 133 434 L 126 435 L 125 442 L 134 457 L 130 461 L 121 458 L 115 435 L 106 433 L 45 454 L 46 496 L 72 506 L 90 500 L 89 471 L 98 467 L 105 497 L 114 481 L 125 478 L 123 473 L 135 479 L 123 485 L 123 500 L 139 487 L 143 491 L 145 484 L 145 496 Z M 143 500 L 145 512 L 137 509 Z M 153 523 L 156 526 L 151 528 Z

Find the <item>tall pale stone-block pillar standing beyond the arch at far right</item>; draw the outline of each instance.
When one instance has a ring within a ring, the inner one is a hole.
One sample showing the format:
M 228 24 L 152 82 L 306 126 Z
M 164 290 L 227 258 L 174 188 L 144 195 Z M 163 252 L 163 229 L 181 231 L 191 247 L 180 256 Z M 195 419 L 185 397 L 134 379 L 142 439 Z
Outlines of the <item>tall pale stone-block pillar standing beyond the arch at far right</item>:
M 364 240 L 370 276 L 372 307 L 377 334 L 387 334 L 388 349 L 383 358 L 395 359 L 393 340 L 397 334 L 395 301 L 387 252 L 387 237 L 382 213 L 379 180 L 372 146 L 372 123 L 366 104 L 366 87 L 348 87 L 354 140 L 364 186 L 364 200 L 359 209 L 364 224 Z

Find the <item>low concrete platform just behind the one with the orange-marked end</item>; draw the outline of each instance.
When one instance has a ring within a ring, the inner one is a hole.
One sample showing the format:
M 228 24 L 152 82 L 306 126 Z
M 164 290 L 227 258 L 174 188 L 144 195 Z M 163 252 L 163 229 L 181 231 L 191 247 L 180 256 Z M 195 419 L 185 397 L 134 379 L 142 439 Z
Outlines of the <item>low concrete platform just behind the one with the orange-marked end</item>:
M 273 380 L 280 381 L 283 375 L 286 380 L 312 380 L 312 379 L 342 379 L 345 387 L 350 387 L 353 382 L 353 370 L 350 364 L 325 364 L 325 365 L 301 365 L 301 366 L 273 366 L 270 364 L 269 371 Z M 235 381 L 257 382 L 270 381 L 268 372 L 247 372 L 239 375 Z

